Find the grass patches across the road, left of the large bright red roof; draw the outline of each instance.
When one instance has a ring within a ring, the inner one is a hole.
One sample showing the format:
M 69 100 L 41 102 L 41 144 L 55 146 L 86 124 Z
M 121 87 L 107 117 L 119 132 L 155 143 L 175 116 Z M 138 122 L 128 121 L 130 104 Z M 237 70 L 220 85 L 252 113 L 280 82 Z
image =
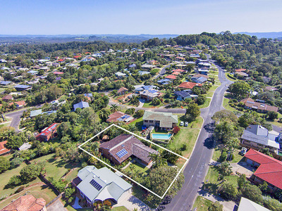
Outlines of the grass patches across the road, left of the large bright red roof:
M 207 172 L 207 176 L 204 179 L 204 190 L 216 195 L 216 190 L 219 188 L 219 186 L 222 185 L 222 180 L 219 181 L 218 178 L 219 172 L 217 170 L 217 167 L 210 166 L 209 171 Z M 235 184 L 235 186 L 238 186 L 237 178 L 238 177 L 236 175 L 230 175 L 228 177 L 225 177 L 225 182 L 229 182 L 231 184 Z

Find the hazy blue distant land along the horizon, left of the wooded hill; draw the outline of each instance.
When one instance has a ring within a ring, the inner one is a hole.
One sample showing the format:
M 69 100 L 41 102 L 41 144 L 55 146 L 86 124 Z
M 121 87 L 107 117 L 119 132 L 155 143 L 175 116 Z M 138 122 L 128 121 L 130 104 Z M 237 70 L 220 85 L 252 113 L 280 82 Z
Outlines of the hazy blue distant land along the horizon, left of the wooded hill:
M 177 37 L 178 34 L 59 34 L 59 35 L 5 35 L 0 34 L 0 43 L 64 43 L 68 41 L 106 41 L 141 43 L 147 39 L 158 37 L 159 39 L 169 39 Z

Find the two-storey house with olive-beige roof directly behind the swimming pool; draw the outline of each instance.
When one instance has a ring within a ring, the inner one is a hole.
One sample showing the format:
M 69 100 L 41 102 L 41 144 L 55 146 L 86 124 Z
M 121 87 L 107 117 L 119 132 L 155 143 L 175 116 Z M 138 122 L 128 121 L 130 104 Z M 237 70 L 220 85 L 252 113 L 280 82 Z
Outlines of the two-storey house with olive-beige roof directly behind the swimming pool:
M 164 130 L 173 129 L 173 127 L 176 127 L 178 124 L 178 116 L 172 113 L 145 110 L 143 124 L 146 125 L 146 127 L 154 126 Z

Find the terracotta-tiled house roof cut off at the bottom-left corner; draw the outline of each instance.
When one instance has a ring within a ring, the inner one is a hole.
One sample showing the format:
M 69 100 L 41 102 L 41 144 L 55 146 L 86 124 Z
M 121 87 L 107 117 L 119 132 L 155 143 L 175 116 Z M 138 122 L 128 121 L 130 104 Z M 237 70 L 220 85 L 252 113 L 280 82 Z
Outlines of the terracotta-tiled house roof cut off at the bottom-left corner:
M 12 203 L 6 205 L 3 211 L 47 211 L 44 198 L 35 198 L 32 195 L 20 196 Z

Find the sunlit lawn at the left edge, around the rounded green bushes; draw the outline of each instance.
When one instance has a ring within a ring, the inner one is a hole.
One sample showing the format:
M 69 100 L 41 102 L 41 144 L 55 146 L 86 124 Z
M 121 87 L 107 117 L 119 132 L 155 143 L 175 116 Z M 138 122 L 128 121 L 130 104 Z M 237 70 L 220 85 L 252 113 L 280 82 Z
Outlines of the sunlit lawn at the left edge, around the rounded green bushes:
M 10 180 L 11 177 L 13 177 L 14 175 L 20 175 L 20 170 L 23 169 L 23 167 L 25 167 L 26 164 L 25 162 L 23 162 L 19 167 L 16 167 L 13 170 L 8 170 L 2 174 L 0 174 L 0 198 L 1 196 L 6 196 L 6 195 L 11 195 L 12 193 L 15 193 L 16 188 L 8 188 L 8 189 L 4 189 L 4 186 L 6 186 L 6 184 L 8 184 L 8 181 Z M 30 183 L 28 184 L 24 184 L 23 186 L 29 186 L 30 184 L 35 184 L 37 182 L 39 182 L 40 179 L 37 178 L 33 181 L 30 181 Z

